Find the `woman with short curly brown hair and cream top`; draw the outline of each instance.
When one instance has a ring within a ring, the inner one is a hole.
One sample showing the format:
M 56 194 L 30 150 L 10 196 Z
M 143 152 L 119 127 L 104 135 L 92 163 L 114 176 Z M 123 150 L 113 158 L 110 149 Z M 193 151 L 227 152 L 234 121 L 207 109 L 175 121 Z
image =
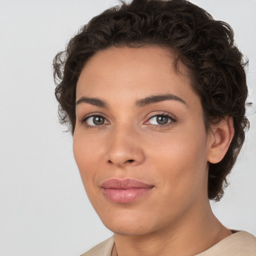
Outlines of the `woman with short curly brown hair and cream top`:
M 56 55 L 60 118 L 114 232 L 83 255 L 255 255 L 209 205 L 248 127 L 245 65 L 229 25 L 185 0 L 108 9 Z

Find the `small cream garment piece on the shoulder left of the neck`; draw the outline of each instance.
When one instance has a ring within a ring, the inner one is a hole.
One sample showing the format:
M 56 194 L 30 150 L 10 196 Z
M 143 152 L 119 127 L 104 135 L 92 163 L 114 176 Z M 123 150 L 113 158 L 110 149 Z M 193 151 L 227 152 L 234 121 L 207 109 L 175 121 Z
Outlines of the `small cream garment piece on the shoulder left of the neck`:
M 114 236 L 100 242 L 80 256 L 110 256 L 114 245 Z

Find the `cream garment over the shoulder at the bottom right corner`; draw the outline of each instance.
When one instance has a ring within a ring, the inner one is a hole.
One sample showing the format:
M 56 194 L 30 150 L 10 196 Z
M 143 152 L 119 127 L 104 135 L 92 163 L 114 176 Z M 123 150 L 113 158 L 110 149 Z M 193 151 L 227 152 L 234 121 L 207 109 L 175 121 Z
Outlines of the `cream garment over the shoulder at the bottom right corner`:
M 246 231 L 236 232 L 196 256 L 255 256 L 256 238 Z

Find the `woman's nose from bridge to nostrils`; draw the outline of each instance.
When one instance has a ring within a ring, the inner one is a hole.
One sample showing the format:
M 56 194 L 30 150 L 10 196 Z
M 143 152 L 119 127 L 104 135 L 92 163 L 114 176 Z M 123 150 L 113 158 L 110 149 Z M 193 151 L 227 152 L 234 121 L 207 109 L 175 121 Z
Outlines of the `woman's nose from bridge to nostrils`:
M 109 134 L 107 162 L 117 167 L 134 166 L 145 159 L 139 135 L 128 128 L 114 129 Z

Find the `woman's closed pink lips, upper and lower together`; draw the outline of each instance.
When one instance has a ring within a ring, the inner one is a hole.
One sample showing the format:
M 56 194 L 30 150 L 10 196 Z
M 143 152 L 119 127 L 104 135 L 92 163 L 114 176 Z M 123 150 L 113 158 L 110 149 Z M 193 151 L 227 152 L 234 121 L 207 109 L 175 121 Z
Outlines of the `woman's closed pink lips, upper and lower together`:
M 104 181 L 100 187 L 108 200 L 116 203 L 129 203 L 147 194 L 153 185 L 132 178 L 111 178 Z

